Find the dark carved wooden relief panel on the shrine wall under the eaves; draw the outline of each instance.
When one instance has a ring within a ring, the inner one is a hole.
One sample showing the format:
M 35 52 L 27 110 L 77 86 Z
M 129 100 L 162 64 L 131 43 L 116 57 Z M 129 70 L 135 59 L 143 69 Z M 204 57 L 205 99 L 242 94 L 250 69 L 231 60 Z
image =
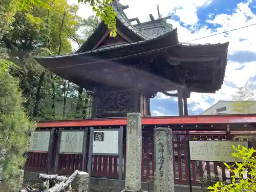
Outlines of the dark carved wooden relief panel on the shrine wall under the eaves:
M 132 90 L 100 91 L 95 106 L 96 118 L 125 117 L 134 112 L 134 98 Z

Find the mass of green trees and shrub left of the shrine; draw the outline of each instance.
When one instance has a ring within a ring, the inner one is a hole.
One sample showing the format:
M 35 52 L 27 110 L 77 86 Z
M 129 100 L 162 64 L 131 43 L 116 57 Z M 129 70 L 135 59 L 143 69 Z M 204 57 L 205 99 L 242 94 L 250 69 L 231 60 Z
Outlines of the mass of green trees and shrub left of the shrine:
M 72 52 L 70 39 L 81 42 L 77 30 L 89 25 L 77 11 L 78 6 L 68 5 L 66 0 L 1 1 L 0 170 L 10 190 L 17 187 L 18 169 L 24 166 L 23 154 L 35 127 L 28 117 L 34 120 L 90 117 L 90 92 L 47 71 L 33 59 L 35 55 L 57 54 L 60 42 L 60 54 Z M 71 112 L 64 107 L 68 103 L 64 101 L 70 98 L 75 100 Z M 61 106 L 56 109 L 58 102 Z

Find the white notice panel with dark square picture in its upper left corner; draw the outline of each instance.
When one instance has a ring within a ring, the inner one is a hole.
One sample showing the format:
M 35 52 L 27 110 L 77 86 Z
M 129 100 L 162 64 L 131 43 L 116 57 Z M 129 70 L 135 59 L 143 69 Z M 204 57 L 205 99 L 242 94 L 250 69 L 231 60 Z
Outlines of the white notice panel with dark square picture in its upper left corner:
M 94 131 L 93 154 L 118 154 L 118 130 Z

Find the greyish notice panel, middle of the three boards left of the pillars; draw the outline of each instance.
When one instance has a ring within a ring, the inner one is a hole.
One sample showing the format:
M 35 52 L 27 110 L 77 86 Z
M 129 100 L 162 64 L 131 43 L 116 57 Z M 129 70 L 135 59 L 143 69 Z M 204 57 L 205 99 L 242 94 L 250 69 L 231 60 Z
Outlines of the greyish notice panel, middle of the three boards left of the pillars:
M 84 131 L 62 131 L 59 153 L 79 154 L 83 153 Z

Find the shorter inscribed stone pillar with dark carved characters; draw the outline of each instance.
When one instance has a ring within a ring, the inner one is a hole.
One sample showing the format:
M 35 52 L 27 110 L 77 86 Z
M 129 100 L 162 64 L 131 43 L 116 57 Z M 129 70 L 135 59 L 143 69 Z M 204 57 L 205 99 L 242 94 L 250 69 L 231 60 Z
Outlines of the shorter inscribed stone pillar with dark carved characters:
M 154 130 L 155 191 L 174 191 L 173 138 L 169 128 Z

